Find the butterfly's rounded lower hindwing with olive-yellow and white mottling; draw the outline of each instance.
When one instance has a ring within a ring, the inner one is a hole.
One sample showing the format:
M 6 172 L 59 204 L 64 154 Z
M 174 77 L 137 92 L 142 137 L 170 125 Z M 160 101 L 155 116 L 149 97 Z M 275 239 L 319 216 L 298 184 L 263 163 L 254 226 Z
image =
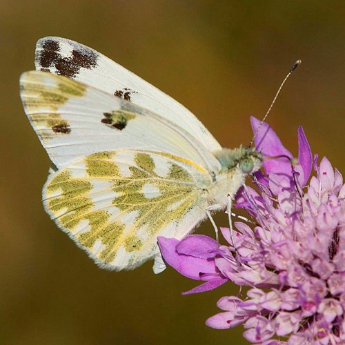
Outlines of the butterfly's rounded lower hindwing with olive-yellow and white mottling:
M 157 236 L 181 239 L 206 216 L 202 167 L 166 152 L 97 152 L 53 172 L 43 188 L 50 217 L 106 268 L 139 266 Z

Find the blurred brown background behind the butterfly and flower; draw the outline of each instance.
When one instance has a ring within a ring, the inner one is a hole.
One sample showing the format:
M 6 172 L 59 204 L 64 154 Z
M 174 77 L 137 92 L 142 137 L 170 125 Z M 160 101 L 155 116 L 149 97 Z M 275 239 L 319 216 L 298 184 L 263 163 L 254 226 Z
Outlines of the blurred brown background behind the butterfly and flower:
M 304 126 L 313 152 L 345 170 L 343 1 L 0 1 L 0 344 L 246 344 L 243 329 L 205 320 L 239 292 L 199 284 L 152 262 L 101 270 L 49 219 L 41 188 L 50 161 L 19 99 L 40 37 L 103 52 L 192 110 L 222 146 L 248 144 L 296 59 L 268 119 L 297 155 Z M 226 218 L 218 217 L 219 225 Z M 213 236 L 204 223 L 199 232 Z

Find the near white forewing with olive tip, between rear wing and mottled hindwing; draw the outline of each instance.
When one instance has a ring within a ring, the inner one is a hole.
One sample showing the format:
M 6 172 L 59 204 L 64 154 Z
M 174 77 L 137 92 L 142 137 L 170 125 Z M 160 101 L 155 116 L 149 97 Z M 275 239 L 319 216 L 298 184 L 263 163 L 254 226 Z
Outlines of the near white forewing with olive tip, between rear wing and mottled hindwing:
M 90 86 L 47 72 L 21 76 L 21 98 L 50 159 L 62 168 L 117 148 L 168 152 L 217 169 L 217 159 L 164 117 Z

